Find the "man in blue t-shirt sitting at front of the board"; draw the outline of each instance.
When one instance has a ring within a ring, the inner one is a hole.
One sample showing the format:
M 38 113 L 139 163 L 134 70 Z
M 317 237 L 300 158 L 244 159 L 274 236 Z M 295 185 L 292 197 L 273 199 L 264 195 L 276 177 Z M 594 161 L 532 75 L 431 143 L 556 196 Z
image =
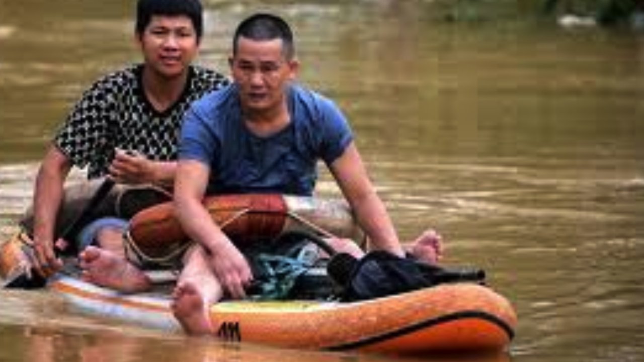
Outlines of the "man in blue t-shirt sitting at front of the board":
M 243 298 L 252 280 L 242 252 L 202 204 L 204 195 L 311 195 L 321 159 L 372 246 L 404 254 L 344 115 L 331 100 L 292 82 L 299 66 L 294 52 L 285 21 L 252 15 L 234 35 L 234 84 L 205 95 L 186 114 L 175 207 L 196 246 L 185 256 L 172 307 L 189 333 L 212 332 L 207 307 L 224 294 Z

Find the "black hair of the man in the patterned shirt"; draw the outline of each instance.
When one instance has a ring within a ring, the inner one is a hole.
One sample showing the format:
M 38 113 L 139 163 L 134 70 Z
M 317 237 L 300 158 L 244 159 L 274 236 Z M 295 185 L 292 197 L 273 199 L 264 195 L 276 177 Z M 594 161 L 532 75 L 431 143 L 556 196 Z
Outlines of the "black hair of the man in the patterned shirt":
M 137 34 L 146 30 L 153 15 L 185 15 L 193 22 L 197 39 L 204 33 L 204 8 L 199 0 L 138 0 Z

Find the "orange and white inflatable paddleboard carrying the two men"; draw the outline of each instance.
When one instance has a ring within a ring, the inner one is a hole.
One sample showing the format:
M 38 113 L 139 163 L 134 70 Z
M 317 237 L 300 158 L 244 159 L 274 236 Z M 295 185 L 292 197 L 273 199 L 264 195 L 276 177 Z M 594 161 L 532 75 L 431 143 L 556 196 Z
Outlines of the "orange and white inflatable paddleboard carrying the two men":
M 121 294 L 63 274 L 50 288 L 82 312 L 180 330 L 163 292 Z M 229 341 L 391 354 L 504 350 L 516 327 L 506 298 L 475 283 L 352 303 L 222 301 L 211 307 L 211 320 L 216 336 Z

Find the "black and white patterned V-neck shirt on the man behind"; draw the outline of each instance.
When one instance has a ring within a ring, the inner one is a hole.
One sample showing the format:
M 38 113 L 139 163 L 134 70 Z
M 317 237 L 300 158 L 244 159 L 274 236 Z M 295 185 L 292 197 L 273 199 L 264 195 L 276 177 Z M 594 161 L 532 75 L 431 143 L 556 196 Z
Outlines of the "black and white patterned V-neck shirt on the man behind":
M 95 82 L 58 131 L 56 146 L 75 166 L 88 166 L 88 178 L 108 173 L 115 148 L 138 151 L 151 160 L 175 160 L 190 103 L 229 83 L 220 73 L 191 66 L 181 97 L 159 113 L 144 95 L 142 73 L 138 64 Z

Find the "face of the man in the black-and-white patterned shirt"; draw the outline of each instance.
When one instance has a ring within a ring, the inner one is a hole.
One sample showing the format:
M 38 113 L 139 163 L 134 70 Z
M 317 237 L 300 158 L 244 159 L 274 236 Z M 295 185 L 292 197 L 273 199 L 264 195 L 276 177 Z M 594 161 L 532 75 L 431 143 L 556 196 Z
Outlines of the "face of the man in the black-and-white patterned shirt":
M 138 42 L 146 66 L 166 78 L 182 75 L 199 48 L 193 22 L 185 15 L 153 15 Z

